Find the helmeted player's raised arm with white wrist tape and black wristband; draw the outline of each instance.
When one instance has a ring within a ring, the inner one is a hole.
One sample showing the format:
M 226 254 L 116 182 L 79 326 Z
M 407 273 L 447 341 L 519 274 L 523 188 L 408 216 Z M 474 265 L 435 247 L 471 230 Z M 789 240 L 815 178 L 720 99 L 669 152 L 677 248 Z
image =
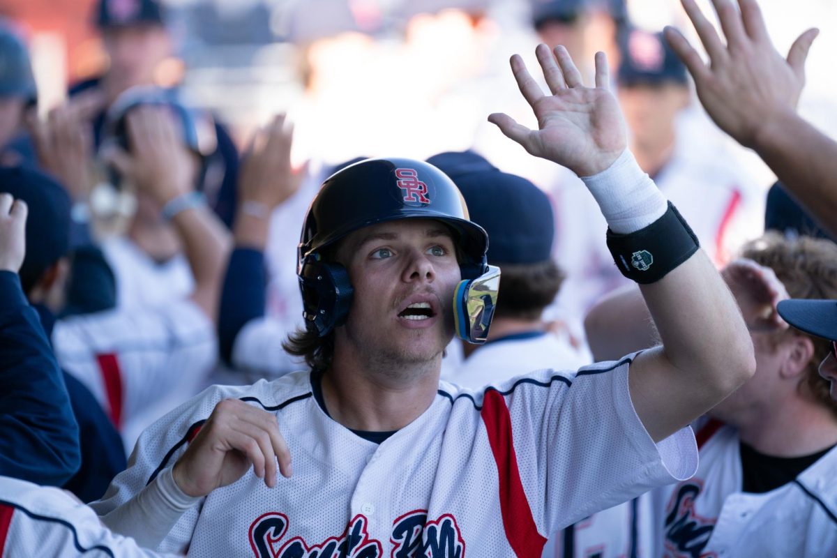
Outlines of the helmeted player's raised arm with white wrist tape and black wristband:
M 675 208 L 626 149 L 608 64 L 596 55 L 595 87 L 585 87 L 566 49 L 536 51 L 552 95 L 544 95 L 519 56 L 511 59 L 538 130 L 490 115 L 535 156 L 582 177 L 608 221 L 608 248 L 640 283 L 663 345 L 636 357 L 629 388 L 655 440 L 675 433 L 752 376 L 752 341 L 735 300 Z

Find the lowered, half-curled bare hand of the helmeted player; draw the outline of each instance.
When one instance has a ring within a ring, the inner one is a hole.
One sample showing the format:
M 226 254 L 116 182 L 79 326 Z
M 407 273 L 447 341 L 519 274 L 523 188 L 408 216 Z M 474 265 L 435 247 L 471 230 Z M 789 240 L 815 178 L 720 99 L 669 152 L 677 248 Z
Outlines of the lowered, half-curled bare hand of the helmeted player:
M 290 478 L 290 452 L 275 415 L 238 399 L 225 399 L 174 464 L 172 475 L 186 494 L 205 496 L 233 484 L 252 466 L 256 476 L 273 488 L 277 459 L 280 473 Z

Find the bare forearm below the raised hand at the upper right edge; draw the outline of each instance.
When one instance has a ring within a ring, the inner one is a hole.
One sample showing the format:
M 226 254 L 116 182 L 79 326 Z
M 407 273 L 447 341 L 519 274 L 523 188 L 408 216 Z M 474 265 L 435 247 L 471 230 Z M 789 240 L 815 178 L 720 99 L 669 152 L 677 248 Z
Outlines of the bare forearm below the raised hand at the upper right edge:
M 837 234 L 837 142 L 788 112 L 769 119 L 752 147 L 819 224 Z

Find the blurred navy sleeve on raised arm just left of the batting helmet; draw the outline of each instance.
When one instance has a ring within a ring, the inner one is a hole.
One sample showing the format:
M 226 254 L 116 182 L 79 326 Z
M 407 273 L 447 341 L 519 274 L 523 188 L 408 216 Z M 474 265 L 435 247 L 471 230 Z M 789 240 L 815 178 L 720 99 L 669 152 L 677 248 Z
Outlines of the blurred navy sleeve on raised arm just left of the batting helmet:
M 264 316 L 266 278 L 264 253 L 261 250 L 233 250 L 223 280 L 218 310 L 218 346 L 221 358 L 228 365 L 232 365 L 233 347 L 239 331 L 250 320 Z

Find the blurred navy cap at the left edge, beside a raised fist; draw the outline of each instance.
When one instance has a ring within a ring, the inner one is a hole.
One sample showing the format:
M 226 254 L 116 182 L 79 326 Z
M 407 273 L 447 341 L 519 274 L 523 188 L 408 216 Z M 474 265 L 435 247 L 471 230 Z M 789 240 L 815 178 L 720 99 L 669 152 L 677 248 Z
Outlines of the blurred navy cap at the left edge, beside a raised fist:
M 49 266 L 69 252 L 69 195 L 58 182 L 27 166 L 0 167 L 0 192 L 28 206 L 23 289 L 31 289 Z

